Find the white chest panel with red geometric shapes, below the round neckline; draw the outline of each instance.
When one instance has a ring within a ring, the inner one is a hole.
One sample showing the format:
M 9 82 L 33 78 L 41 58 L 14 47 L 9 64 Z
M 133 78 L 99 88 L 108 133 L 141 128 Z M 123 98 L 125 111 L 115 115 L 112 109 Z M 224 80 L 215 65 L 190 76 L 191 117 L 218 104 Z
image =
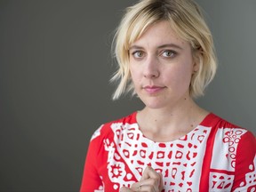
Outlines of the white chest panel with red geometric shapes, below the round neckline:
M 108 175 L 113 183 L 131 187 L 132 177 L 140 180 L 143 170 L 150 165 L 156 172 L 162 172 L 164 186 L 168 186 L 165 191 L 199 188 L 198 178 L 211 128 L 199 125 L 180 140 L 163 143 L 145 138 L 138 124 L 116 123 L 111 124 L 111 129 L 114 143 L 105 140 L 105 149 L 108 151 Z M 132 172 L 126 172 L 127 169 Z

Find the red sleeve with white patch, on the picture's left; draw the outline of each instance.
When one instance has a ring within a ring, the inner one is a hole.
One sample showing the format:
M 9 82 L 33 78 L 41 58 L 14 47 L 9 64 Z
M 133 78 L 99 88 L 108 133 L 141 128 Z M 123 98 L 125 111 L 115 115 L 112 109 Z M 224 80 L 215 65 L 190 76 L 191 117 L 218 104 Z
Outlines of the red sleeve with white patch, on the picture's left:
M 103 191 L 103 184 L 97 169 L 97 154 L 99 151 L 100 128 L 92 135 L 84 164 L 84 175 L 80 192 Z

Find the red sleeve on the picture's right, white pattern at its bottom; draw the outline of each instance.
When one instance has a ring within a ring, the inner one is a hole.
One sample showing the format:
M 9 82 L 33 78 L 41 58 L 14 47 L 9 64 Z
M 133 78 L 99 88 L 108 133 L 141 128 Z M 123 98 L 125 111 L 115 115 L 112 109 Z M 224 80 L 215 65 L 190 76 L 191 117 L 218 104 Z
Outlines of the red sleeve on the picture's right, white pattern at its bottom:
M 256 191 L 256 140 L 252 132 L 246 132 L 237 146 L 232 191 Z

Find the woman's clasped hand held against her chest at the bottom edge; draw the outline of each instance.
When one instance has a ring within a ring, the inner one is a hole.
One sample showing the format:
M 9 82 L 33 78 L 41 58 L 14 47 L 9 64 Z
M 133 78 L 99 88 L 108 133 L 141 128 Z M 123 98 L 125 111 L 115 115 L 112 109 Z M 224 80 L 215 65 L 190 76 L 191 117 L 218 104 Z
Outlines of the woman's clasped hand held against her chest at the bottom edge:
M 164 189 L 163 176 L 148 166 L 144 170 L 139 182 L 132 184 L 132 188 L 121 188 L 120 192 L 161 192 Z

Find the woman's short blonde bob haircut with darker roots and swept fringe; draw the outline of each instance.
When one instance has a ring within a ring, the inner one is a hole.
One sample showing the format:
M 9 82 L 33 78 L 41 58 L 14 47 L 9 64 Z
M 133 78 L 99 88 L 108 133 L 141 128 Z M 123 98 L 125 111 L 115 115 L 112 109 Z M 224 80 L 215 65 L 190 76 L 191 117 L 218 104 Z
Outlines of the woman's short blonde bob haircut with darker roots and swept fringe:
M 198 71 L 191 77 L 190 97 L 204 95 L 205 87 L 215 76 L 217 62 L 212 34 L 199 6 L 193 0 L 140 0 L 126 9 L 116 28 L 112 49 L 118 68 L 110 81 L 118 82 L 118 85 L 113 100 L 123 93 L 135 94 L 129 68 L 129 48 L 152 24 L 162 20 L 169 21 L 175 33 L 191 45 L 193 58 L 199 62 Z

